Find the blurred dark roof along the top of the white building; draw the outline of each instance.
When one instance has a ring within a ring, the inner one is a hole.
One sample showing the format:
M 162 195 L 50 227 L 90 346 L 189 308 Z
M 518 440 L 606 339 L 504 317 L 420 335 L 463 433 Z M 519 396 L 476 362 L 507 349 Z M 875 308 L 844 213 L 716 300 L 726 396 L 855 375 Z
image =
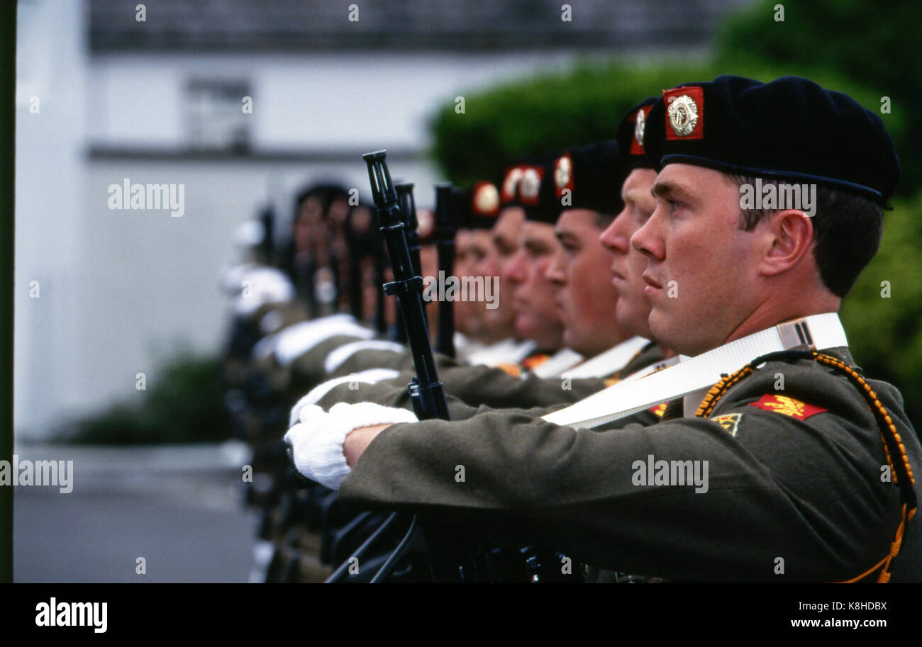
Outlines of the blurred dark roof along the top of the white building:
M 661 49 L 710 40 L 750 0 L 89 0 L 92 53 L 328 49 Z M 349 21 L 349 6 L 359 20 Z

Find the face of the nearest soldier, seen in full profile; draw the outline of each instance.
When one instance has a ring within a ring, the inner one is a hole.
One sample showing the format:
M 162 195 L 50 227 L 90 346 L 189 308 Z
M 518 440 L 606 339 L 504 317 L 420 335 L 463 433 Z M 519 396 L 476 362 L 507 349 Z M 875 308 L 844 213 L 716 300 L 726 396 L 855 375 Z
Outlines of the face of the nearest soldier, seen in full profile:
M 718 171 L 668 164 L 654 192 L 656 210 L 631 239 L 647 257 L 650 330 L 698 355 L 724 344 L 759 307 L 756 237 L 739 229 L 739 188 Z

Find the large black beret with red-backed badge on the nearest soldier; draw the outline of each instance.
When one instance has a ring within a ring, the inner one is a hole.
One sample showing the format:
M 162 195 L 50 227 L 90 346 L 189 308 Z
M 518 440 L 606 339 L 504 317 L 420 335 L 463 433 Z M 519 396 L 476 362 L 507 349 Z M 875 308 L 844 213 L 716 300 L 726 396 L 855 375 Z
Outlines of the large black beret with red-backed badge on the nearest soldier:
M 679 162 L 817 182 L 879 204 L 900 178 L 881 118 L 799 76 L 717 76 L 663 90 L 646 115 L 644 147 L 656 168 Z

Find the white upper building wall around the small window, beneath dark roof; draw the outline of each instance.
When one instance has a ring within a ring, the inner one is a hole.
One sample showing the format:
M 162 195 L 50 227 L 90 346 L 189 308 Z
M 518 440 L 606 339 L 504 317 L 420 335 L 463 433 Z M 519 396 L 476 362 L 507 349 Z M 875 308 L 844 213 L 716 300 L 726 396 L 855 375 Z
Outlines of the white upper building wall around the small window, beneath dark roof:
M 247 79 L 254 147 L 426 147 L 445 101 L 568 53 L 111 54 L 90 61 L 88 136 L 100 144 L 181 146 L 188 78 Z M 463 118 L 464 115 L 458 115 Z

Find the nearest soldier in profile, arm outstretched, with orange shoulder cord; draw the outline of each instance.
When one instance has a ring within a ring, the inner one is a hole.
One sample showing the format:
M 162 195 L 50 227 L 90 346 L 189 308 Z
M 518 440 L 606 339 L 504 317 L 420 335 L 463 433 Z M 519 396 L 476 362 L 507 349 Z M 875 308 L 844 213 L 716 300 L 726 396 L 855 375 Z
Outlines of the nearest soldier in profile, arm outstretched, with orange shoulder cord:
M 690 359 L 547 419 L 302 412 L 289 432 L 301 473 L 341 483 L 355 508 L 670 580 L 922 580 L 922 448 L 835 314 L 899 177 L 880 118 L 807 79 L 718 76 L 665 90 L 644 147 L 661 167 L 632 236 L 649 324 Z M 816 202 L 746 209 L 754 179 L 775 195 L 815 182 Z M 622 424 L 657 398 L 658 424 Z

